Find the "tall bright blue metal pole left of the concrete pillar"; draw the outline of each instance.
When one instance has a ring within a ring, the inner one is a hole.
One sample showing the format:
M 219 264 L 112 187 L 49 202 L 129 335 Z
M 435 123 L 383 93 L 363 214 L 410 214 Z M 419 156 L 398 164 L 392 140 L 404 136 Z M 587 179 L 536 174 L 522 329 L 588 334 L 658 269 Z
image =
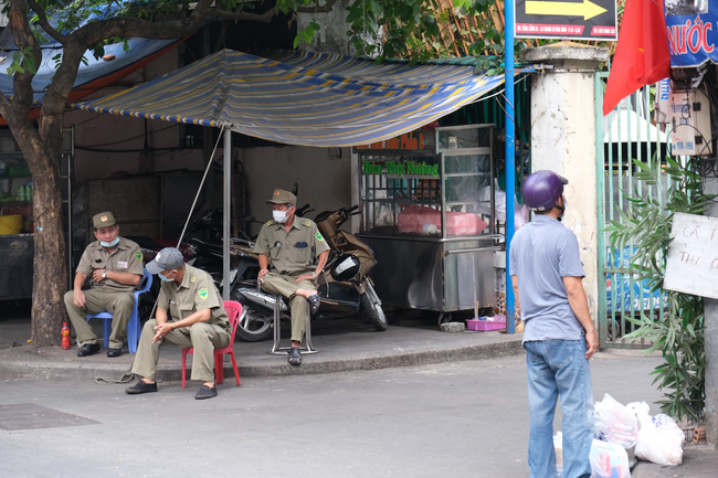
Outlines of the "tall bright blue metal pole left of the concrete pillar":
M 516 191 L 516 166 L 514 134 L 516 131 L 514 115 L 514 1 L 504 2 L 504 64 L 506 65 L 504 92 L 506 105 L 506 333 L 514 333 L 514 288 L 509 274 L 509 247 L 514 238 L 514 194 Z

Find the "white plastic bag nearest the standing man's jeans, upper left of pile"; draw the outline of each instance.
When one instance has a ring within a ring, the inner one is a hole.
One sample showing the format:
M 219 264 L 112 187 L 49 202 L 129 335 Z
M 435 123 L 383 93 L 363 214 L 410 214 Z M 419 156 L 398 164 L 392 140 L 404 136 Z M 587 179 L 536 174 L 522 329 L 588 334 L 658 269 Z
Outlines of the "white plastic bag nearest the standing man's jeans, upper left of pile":
M 593 407 L 595 434 L 606 442 L 631 448 L 638 438 L 638 418 L 635 413 L 608 393 Z

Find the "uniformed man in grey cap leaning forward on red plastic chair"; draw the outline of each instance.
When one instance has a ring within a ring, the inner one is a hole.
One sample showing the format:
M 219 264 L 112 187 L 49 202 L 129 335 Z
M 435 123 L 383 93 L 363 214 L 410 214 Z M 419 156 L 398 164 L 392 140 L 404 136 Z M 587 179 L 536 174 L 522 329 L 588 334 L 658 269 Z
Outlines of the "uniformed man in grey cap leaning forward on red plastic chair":
M 126 389 L 128 394 L 157 392 L 157 361 L 163 341 L 194 349 L 191 380 L 202 382 L 194 399 L 217 396 L 214 349 L 230 344 L 231 326 L 224 302 L 204 270 L 184 264 L 175 247 L 160 251 L 147 270 L 156 274 L 162 286 L 155 318 L 148 320 L 139 338 L 133 373 L 139 381 Z

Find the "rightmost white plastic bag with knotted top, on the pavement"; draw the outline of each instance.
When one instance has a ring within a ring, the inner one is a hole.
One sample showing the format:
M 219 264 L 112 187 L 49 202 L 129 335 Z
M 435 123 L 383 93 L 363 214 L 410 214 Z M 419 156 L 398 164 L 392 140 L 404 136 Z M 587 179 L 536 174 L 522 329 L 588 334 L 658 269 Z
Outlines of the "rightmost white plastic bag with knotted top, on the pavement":
M 626 407 L 636 414 L 641 427 L 636 440 L 636 457 L 663 466 L 680 465 L 686 436 L 676 421 L 663 413 L 651 416 L 648 404 L 645 402 L 632 402 Z

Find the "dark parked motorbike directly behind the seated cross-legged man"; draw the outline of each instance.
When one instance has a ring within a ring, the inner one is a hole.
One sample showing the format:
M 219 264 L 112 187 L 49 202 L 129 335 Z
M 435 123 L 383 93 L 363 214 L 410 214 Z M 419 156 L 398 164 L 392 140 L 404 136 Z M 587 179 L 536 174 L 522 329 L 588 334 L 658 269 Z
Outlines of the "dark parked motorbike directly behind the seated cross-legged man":
M 314 319 L 331 319 L 359 311 L 377 330 L 387 330 L 387 317 L 373 283 L 367 275 L 377 264 L 371 248 L 355 235 L 339 227 L 359 206 L 341 208 L 317 215 L 319 232 L 330 247 L 329 259 L 318 277 L 320 305 Z M 256 276 L 255 276 L 256 277 Z M 237 327 L 237 336 L 246 341 L 262 341 L 273 334 L 275 297 L 258 288 L 256 278 L 240 280 L 232 290 L 232 300 L 240 301 L 246 315 Z M 284 299 L 279 309 L 286 316 Z

